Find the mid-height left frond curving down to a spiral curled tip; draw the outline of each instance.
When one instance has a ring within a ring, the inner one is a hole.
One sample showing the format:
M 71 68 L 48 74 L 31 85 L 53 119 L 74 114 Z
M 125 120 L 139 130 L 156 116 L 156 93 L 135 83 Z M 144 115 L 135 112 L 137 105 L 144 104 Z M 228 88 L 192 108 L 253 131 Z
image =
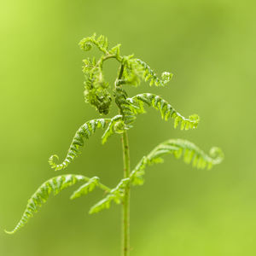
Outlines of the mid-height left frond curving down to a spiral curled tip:
M 84 125 L 80 126 L 79 130 L 76 132 L 73 137 L 73 141 L 70 147 L 67 150 L 67 156 L 65 160 L 62 161 L 61 164 L 56 164 L 54 158 L 58 160 L 58 156 L 53 154 L 49 157 L 49 165 L 51 168 L 55 169 L 55 171 L 66 169 L 67 166 L 73 162 L 73 160 L 79 156 L 80 150 L 79 148 L 84 146 L 84 139 L 89 139 L 89 137 L 96 132 L 98 128 L 105 128 L 105 126 L 112 119 L 92 119 L 87 121 Z

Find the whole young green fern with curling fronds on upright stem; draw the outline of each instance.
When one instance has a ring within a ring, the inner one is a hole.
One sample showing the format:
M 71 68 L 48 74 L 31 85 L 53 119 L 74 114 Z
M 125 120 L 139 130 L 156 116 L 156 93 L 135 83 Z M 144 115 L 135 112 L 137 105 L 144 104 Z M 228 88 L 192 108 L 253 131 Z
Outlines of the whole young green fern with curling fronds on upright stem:
M 210 169 L 223 160 L 224 154 L 219 148 L 212 148 L 209 154 L 206 154 L 195 146 L 194 143 L 183 139 L 170 139 L 160 143 L 149 154 L 144 155 L 137 166 L 131 170 L 127 131 L 133 127 L 137 114 L 145 113 L 145 107 L 155 108 L 160 112 L 162 119 L 166 121 L 172 120 L 174 128 L 179 127 L 181 130 L 195 129 L 198 125 L 199 117 L 196 114 L 190 115 L 189 118 L 183 117 L 169 102 L 160 96 L 151 93 L 128 96 L 125 90 L 127 86 L 138 86 L 141 81 L 148 82 L 150 86 L 166 86 L 172 79 L 172 73 L 164 72 L 159 78 L 147 63 L 137 59 L 134 55 L 120 55 L 120 44 L 109 49 L 108 39 L 103 36 L 97 38 L 96 34 L 94 34 L 89 38 L 84 38 L 80 41 L 79 46 L 84 51 L 88 51 L 93 46 L 96 46 L 102 53 L 98 60 L 96 58 L 87 58 L 83 61 L 85 102 L 90 103 L 90 105 L 96 108 L 96 111 L 105 115 L 108 114 L 110 105 L 114 102 L 119 109 L 119 113 L 112 118 L 86 121 L 75 133 L 73 141 L 67 150 L 66 158 L 61 162 L 56 162 L 58 156 L 54 154 L 49 158 L 49 165 L 55 171 L 66 169 L 79 156 L 84 142 L 96 130 L 101 128 L 104 130 L 102 143 L 106 143 L 108 138 L 114 134 L 122 138 L 124 178 L 120 180 L 115 188 L 109 188 L 101 183 L 99 177 L 65 174 L 50 178 L 29 199 L 26 210 L 19 223 L 15 226 L 15 229 L 6 232 L 14 234 L 17 230 L 20 230 L 32 218 L 34 213 L 38 212 L 38 209 L 44 202 L 48 200 L 51 192 L 57 195 L 62 189 L 71 187 L 76 183 L 82 183 L 79 189 L 75 190 L 71 195 L 70 198 L 72 200 L 82 195 L 87 195 L 96 188 L 102 189 L 105 192 L 105 197 L 90 208 L 90 213 L 108 209 L 112 203 L 121 204 L 123 208 L 122 255 L 128 256 L 130 255 L 130 190 L 131 186 L 143 184 L 145 168 L 162 162 L 162 158 L 165 155 L 173 155 L 177 159 L 183 159 L 187 164 L 191 163 L 196 168 Z M 108 61 L 108 59 L 115 59 L 119 62 L 119 72 L 113 88 L 110 88 L 103 75 L 103 63 Z

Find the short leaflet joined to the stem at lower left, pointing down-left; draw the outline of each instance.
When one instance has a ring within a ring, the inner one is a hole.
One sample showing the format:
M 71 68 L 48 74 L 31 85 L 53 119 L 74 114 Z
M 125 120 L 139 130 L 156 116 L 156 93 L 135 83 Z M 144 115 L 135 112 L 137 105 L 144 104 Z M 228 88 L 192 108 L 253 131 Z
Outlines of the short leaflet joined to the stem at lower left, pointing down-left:
M 124 197 L 124 189 L 129 182 L 129 177 L 123 178 L 119 184 L 114 189 L 112 189 L 105 198 L 102 199 L 102 201 L 99 201 L 95 206 L 90 208 L 89 213 L 92 214 L 101 212 L 103 209 L 108 209 L 111 206 L 112 201 L 114 201 L 116 204 L 120 204 Z

